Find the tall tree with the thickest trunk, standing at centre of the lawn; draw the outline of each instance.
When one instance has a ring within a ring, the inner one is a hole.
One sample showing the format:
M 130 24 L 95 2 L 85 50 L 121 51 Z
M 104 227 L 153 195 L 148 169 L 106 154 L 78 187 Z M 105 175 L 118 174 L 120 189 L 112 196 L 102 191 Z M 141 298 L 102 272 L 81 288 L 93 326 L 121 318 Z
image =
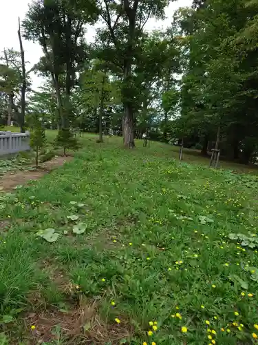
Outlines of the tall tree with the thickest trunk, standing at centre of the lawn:
M 125 146 L 133 148 L 134 102 L 137 95 L 133 70 L 136 52 L 141 44 L 144 25 L 150 17 L 162 18 L 169 0 L 99 0 L 98 3 L 100 16 L 106 24 L 106 28 L 99 30 L 98 34 L 100 55 L 122 80 L 121 95 L 125 111 L 123 138 Z

